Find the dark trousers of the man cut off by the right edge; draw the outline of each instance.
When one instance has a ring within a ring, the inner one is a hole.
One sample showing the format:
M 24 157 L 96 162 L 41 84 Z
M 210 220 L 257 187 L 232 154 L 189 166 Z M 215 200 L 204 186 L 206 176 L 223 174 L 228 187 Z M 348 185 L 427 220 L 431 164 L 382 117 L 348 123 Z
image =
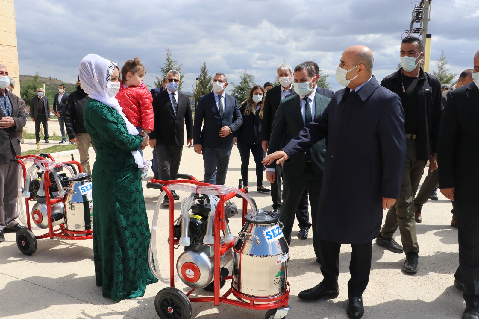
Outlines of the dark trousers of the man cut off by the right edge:
M 479 308 L 479 204 L 453 202 L 457 218 L 459 267 L 454 277 L 464 284 L 466 306 Z

